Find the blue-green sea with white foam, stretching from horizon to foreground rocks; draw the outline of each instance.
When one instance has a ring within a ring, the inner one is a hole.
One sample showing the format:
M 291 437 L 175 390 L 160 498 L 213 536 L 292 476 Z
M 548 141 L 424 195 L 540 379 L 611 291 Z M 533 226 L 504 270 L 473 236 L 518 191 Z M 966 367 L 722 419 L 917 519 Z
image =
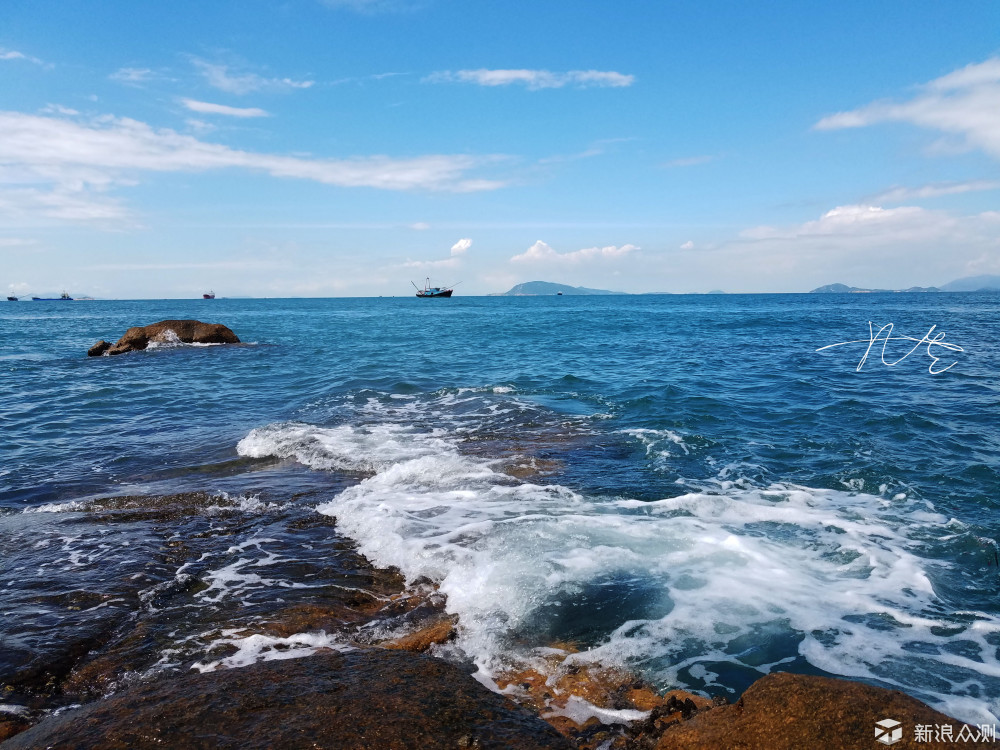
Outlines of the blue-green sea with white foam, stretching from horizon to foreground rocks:
M 180 318 L 244 343 L 86 356 Z M 1000 723 L 998 540 L 998 294 L 0 308 L 7 712 L 95 655 L 113 692 L 351 648 L 260 626 L 395 576 L 487 685 L 561 653 Z

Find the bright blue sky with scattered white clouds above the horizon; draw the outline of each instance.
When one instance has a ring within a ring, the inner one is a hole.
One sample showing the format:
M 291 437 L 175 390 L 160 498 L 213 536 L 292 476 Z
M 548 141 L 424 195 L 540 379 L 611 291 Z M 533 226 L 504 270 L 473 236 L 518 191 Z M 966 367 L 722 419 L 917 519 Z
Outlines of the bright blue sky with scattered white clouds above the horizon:
M 3 0 L 0 286 L 1000 273 L 1000 4 Z

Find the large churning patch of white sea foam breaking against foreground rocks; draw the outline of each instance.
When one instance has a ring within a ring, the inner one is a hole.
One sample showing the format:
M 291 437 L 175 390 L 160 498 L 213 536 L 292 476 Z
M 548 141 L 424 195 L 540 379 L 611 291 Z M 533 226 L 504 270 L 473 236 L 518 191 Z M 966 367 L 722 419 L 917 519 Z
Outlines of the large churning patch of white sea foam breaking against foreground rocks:
M 804 657 L 966 720 L 1000 716 L 1000 621 L 936 595 L 933 566 L 947 563 L 921 557 L 919 540 L 966 532 L 922 500 L 754 486 L 733 467 L 656 502 L 587 497 L 519 482 L 457 445 L 413 427 L 290 424 L 255 430 L 240 450 L 371 467 L 319 511 L 376 564 L 439 582 L 460 616 L 458 648 L 487 675 L 546 612 L 575 607 L 607 627 L 569 663 L 684 685 L 726 664 L 766 673 Z M 616 612 L 630 591 L 641 605 Z

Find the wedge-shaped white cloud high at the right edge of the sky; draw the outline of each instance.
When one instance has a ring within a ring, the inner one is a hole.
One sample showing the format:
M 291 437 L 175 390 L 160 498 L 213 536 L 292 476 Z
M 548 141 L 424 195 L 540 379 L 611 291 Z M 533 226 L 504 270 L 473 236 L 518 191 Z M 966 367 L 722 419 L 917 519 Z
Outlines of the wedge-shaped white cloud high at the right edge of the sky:
M 904 102 L 878 101 L 824 117 L 817 130 L 905 122 L 958 139 L 958 146 L 1000 158 L 1000 58 L 968 65 L 920 87 Z

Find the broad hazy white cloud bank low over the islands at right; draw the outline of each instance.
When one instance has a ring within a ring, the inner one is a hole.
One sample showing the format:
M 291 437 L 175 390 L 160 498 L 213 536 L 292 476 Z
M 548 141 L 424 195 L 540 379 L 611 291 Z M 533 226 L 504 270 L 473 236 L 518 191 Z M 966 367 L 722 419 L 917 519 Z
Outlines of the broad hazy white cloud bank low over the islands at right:
M 642 260 L 651 291 L 805 292 L 835 282 L 939 286 L 1000 272 L 1000 212 L 840 206 L 801 223 L 752 227 L 728 240 L 697 243 L 694 252 Z

